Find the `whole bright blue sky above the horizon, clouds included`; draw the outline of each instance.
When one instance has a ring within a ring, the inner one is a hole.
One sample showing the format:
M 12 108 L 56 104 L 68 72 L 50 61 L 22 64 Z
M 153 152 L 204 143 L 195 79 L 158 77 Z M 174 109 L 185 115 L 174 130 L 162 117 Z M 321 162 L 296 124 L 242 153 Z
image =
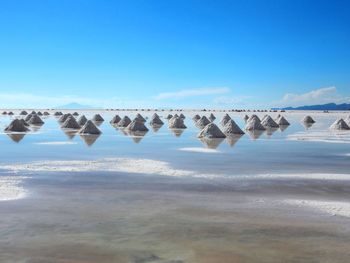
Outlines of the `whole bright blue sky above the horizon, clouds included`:
M 0 107 L 350 102 L 347 1 L 0 1 Z

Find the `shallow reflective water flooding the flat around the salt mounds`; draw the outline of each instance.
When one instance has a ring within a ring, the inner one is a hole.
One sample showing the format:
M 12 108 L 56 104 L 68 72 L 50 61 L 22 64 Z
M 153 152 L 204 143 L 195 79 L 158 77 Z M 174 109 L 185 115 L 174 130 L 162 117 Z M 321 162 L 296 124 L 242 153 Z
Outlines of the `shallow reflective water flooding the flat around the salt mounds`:
M 286 113 L 283 131 L 214 142 L 196 138 L 193 112 L 180 136 L 142 138 L 115 113 L 135 115 L 101 112 L 88 144 L 53 116 L 20 141 L 0 135 L 0 176 L 18 179 L 0 202 L 0 262 L 348 262 L 350 132 L 328 131 L 348 113 L 310 113 L 309 128 Z

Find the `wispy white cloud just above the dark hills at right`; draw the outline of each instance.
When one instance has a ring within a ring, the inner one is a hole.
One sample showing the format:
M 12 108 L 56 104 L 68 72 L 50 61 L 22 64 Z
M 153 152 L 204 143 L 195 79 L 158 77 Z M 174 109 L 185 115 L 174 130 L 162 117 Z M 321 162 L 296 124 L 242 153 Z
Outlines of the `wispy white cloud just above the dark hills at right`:
M 315 89 L 310 92 L 295 94 L 287 93 L 277 102 L 279 106 L 302 106 L 310 104 L 325 104 L 325 103 L 346 103 L 350 98 L 339 94 L 336 87 L 326 87 Z

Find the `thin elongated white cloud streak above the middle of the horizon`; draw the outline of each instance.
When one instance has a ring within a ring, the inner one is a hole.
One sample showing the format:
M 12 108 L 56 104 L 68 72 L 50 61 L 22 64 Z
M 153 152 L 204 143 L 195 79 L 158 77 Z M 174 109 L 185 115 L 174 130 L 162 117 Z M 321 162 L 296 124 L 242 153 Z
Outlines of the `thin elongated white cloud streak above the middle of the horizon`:
M 174 92 L 163 92 L 163 93 L 159 93 L 154 98 L 157 100 L 181 99 L 181 98 L 195 97 L 195 96 L 226 94 L 229 92 L 230 92 L 230 89 L 227 87 L 198 88 L 198 89 L 179 90 Z

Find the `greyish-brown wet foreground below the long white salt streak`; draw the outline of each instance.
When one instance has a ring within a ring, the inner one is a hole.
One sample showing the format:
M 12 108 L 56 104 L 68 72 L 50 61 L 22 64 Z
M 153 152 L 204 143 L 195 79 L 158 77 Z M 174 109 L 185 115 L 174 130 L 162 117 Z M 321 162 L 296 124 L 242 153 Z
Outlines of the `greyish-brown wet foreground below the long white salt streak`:
M 0 262 L 349 262 L 350 182 L 35 174 L 0 202 Z

